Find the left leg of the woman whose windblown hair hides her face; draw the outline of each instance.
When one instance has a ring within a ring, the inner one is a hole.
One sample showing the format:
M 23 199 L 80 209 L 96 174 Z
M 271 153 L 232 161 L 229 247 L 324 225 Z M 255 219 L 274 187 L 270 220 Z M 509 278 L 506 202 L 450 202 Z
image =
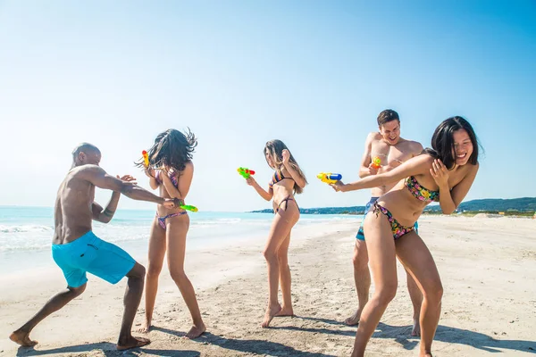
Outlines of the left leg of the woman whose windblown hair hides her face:
M 165 230 L 160 227 L 155 219 L 151 227 L 151 237 L 149 238 L 149 254 L 147 265 L 147 281 L 145 288 L 146 319 L 138 332 L 149 332 L 153 322 L 153 311 L 155 310 L 156 293 L 158 292 L 158 278 L 163 266 L 165 255 Z

